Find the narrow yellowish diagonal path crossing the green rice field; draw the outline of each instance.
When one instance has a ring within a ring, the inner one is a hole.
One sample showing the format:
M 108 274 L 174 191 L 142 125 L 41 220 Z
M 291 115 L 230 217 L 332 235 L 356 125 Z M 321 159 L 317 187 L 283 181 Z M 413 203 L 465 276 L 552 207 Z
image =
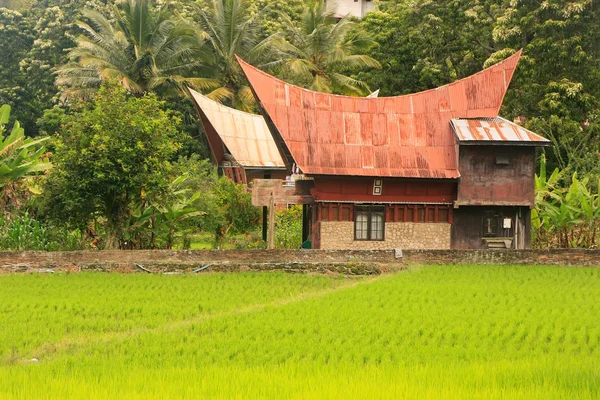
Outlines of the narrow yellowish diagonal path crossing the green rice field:
M 350 290 L 356 288 L 361 285 L 369 285 L 375 281 L 379 281 L 385 279 L 392 275 L 377 275 L 372 277 L 348 277 L 348 282 L 335 288 L 328 288 L 324 290 L 319 290 L 315 292 L 301 293 L 293 298 L 288 298 L 285 300 L 277 299 L 275 301 L 262 303 L 262 304 L 254 304 L 248 307 L 243 307 L 231 311 L 217 312 L 210 315 L 201 315 L 194 318 L 179 320 L 175 322 L 170 322 L 167 324 L 159 325 L 152 328 L 136 328 L 126 332 L 108 332 L 103 334 L 95 334 L 88 335 L 86 337 L 67 337 L 59 342 L 55 343 L 45 343 L 44 345 L 38 347 L 37 349 L 28 352 L 27 354 L 11 354 L 1 361 L 0 365 L 15 365 L 18 363 L 29 364 L 29 363 L 38 363 L 50 360 L 54 355 L 70 352 L 77 348 L 90 345 L 90 344 L 108 344 L 114 341 L 127 340 L 131 339 L 135 336 L 146 334 L 146 333 L 169 333 L 176 331 L 178 329 L 189 327 L 190 325 L 203 323 L 206 321 L 218 319 L 218 318 L 227 318 L 234 315 L 240 314 L 252 314 L 264 311 L 266 309 L 271 308 L 279 308 L 285 307 L 290 304 L 300 303 L 303 301 L 311 300 L 311 299 L 319 299 L 325 296 L 331 295 L 333 293 Z

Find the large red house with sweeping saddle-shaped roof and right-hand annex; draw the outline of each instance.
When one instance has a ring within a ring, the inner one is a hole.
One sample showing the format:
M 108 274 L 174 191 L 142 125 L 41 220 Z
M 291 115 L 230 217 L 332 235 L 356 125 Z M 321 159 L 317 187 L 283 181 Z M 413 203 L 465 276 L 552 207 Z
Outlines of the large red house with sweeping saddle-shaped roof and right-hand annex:
M 521 52 L 412 95 L 316 93 L 245 63 L 283 162 L 314 180 L 321 249 L 527 248 L 535 146 L 498 113 Z

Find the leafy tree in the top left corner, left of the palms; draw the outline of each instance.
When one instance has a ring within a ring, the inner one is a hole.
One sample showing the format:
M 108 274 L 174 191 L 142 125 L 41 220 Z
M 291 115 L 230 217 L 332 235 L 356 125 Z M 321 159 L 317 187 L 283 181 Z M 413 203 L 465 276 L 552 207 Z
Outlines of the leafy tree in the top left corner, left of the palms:
M 0 11 L 0 99 L 29 135 L 38 135 L 36 120 L 58 100 L 55 72 L 75 45 L 74 22 L 84 4 L 106 9 L 103 1 L 33 0 L 20 12 Z

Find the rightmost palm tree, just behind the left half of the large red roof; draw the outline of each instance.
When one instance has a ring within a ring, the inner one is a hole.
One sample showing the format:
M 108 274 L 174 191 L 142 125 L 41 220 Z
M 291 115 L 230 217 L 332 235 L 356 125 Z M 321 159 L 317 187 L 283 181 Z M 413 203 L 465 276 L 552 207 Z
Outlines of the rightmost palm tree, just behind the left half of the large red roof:
M 344 75 L 362 68 L 381 68 L 377 60 L 360 54 L 376 42 L 355 27 L 349 16 L 337 21 L 324 0 L 311 2 L 299 26 L 288 19 L 285 37 L 273 40 L 284 59 L 282 77 L 319 92 L 368 94 L 366 83 Z

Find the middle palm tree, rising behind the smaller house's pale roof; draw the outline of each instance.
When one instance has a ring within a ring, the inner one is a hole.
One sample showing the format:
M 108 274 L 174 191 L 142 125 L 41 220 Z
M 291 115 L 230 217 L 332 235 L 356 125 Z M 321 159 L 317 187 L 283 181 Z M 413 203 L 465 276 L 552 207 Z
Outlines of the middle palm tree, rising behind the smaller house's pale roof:
M 199 11 L 198 24 L 211 43 L 216 56 L 216 79 L 221 86 L 207 96 L 215 101 L 228 100 L 233 107 L 251 111 L 254 97 L 235 58 L 268 68 L 277 63 L 271 45 L 275 36 L 260 40 L 261 25 L 267 8 L 251 12 L 249 0 L 212 0 L 207 9 Z

